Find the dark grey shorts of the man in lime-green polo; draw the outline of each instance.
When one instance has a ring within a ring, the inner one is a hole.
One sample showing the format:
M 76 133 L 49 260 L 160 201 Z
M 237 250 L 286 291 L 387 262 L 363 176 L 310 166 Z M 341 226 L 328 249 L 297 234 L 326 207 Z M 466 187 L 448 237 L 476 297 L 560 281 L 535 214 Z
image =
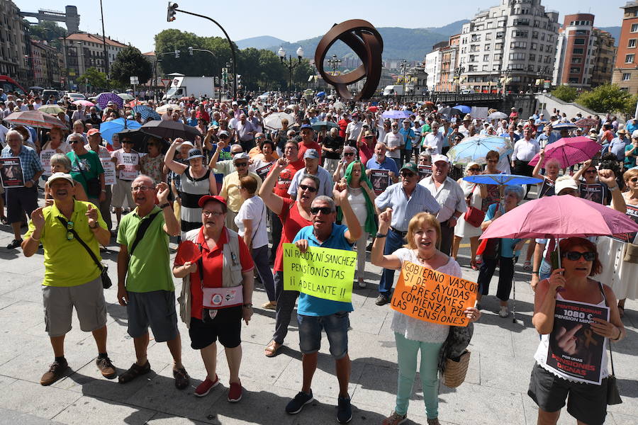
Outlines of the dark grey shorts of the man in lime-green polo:
M 128 293 L 128 334 L 140 338 L 153 331 L 155 341 L 166 342 L 177 338 L 177 311 L 172 290 L 154 290 L 147 293 Z

